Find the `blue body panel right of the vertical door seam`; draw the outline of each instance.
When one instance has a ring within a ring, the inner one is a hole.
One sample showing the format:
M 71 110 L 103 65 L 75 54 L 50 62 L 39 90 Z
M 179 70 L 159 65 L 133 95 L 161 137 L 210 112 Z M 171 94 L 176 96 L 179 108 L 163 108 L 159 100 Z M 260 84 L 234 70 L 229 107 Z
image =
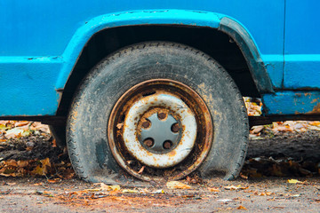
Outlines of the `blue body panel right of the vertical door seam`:
M 287 1 L 284 88 L 320 88 L 319 1 Z

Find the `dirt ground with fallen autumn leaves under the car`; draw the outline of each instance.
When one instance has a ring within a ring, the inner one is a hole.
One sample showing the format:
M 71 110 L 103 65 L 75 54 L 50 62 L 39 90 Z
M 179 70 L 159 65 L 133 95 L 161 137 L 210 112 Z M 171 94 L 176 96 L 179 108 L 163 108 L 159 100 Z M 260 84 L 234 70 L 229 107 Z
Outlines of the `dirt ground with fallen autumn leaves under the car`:
M 0 176 L 0 212 L 319 212 L 320 131 L 269 133 L 252 135 L 236 180 L 190 177 L 182 189 L 86 183 L 63 173 L 72 174 L 68 154 L 50 135 L 12 138 L 0 144 L 1 161 L 49 158 L 64 166 L 50 177 Z

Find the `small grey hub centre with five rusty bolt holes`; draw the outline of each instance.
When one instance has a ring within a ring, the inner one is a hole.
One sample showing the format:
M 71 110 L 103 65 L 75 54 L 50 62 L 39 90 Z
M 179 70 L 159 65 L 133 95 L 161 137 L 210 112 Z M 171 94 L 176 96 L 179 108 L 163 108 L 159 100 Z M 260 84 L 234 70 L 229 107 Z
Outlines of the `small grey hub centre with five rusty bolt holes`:
M 168 153 L 179 144 L 179 126 L 172 114 L 151 114 L 142 123 L 140 143 L 152 153 Z

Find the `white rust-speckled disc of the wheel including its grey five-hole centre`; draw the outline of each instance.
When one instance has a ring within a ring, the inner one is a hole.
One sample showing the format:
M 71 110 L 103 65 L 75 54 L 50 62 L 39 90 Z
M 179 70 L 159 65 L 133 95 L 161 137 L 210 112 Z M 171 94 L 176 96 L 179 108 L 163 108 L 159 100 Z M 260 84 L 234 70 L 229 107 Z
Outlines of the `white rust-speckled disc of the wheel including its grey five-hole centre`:
M 169 168 L 190 154 L 196 130 L 196 116 L 188 105 L 171 93 L 158 91 L 130 106 L 122 137 L 126 149 L 140 162 Z

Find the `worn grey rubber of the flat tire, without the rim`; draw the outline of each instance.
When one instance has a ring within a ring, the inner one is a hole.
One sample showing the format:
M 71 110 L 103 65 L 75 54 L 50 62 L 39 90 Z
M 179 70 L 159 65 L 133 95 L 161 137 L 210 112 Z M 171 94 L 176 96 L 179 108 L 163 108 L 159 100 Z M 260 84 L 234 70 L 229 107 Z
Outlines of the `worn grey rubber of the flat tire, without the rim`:
M 213 170 L 223 171 L 225 177 L 236 175 L 243 163 L 241 150 L 246 152 L 242 97 L 215 60 L 177 43 L 133 45 L 104 59 L 86 76 L 68 119 L 68 146 L 81 167 L 77 173 L 95 182 L 106 173 L 119 172 L 108 146 L 108 117 L 125 91 L 156 78 L 188 85 L 212 114 L 212 148 L 199 169 L 202 176 L 210 176 Z

